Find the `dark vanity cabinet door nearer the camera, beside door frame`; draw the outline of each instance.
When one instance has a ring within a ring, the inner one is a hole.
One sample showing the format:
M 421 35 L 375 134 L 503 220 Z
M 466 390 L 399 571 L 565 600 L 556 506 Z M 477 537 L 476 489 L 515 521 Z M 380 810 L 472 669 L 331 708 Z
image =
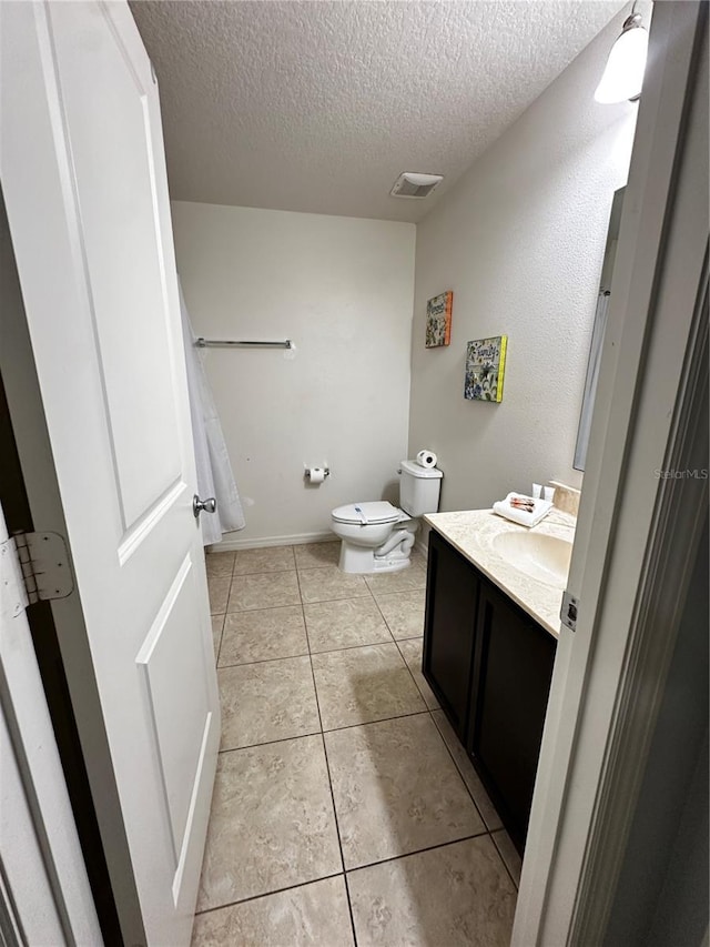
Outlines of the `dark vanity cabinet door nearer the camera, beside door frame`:
M 521 849 L 557 643 L 488 582 L 480 586 L 467 748 Z

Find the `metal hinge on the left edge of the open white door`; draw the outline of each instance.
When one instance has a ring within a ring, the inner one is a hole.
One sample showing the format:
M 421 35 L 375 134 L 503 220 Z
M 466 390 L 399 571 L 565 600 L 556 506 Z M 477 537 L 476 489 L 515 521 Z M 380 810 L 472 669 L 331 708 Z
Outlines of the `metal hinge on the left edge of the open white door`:
M 17 554 L 27 604 L 67 598 L 73 592 L 69 551 L 59 533 L 16 533 L 2 544 L 3 551 L 10 545 Z M 4 558 L 16 556 L 6 555 Z

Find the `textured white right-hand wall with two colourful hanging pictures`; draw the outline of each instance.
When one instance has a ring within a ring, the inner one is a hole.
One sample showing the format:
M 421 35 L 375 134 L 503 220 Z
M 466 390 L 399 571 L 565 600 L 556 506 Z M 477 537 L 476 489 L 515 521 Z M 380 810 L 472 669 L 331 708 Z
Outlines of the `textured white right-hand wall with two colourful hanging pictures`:
M 627 11 L 628 14 L 628 11 Z M 571 463 L 613 191 L 637 107 L 594 91 L 623 13 L 417 228 L 409 450 L 445 472 L 442 510 L 489 506 Z M 454 290 L 449 347 L 424 347 L 426 301 Z M 508 335 L 503 402 L 465 401 L 466 343 Z

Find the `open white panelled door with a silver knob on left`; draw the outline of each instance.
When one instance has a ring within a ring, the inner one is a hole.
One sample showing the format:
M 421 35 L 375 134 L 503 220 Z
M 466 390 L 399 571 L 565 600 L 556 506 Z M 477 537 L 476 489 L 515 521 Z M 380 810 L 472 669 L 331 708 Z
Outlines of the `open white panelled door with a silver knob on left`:
M 158 87 L 123 2 L 0 3 L 0 174 L 77 586 L 148 943 L 178 947 L 220 715 Z

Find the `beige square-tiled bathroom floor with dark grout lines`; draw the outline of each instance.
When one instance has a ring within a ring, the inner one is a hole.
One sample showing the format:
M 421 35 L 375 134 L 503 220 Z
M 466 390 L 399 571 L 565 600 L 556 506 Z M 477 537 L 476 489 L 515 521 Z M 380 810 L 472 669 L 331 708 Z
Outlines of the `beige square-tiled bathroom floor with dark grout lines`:
M 506 947 L 520 859 L 422 675 L 426 564 L 207 556 L 222 746 L 193 945 Z

